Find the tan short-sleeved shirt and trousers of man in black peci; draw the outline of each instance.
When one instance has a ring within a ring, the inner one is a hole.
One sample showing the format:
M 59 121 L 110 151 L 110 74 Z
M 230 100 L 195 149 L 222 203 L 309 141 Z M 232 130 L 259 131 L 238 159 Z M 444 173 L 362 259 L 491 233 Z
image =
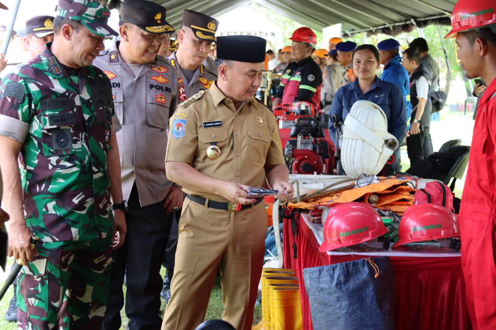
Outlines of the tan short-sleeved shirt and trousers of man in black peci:
M 277 124 L 269 108 L 253 99 L 236 110 L 215 82 L 210 90 L 180 104 L 170 125 L 166 161 L 189 163 L 206 176 L 267 187 L 265 164 L 284 164 Z M 215 160 L 205 153 L 211 143 L 221 150 Z M 218 195 L 183 190 L 227 201 Z M 228 211 L 206 208 L 185 198 L 172 298 L 162 330 L 191 330 L 203 322 L 218 269 L 222 275 L 223 319 L 238 330 L 250 330 L 252 320 L 247 315 L 253 313 L 266 231 L 263 202 Z

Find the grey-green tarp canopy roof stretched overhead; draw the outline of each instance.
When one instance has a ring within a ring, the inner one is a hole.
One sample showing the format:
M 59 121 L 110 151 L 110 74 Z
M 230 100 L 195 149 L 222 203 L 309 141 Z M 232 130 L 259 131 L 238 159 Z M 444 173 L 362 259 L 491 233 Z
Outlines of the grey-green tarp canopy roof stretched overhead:
M 167 9 L 167 21 L 179 28 L 183 9 L 212 17 L 256 2 L 277 13 L 322 31 L 342 23 L 345 34 L 360 31 L 396 35 L 415 25 L 450 24 L 457 0 L 153 0 Z M 221 22 L 222 24 L 222 22 Z

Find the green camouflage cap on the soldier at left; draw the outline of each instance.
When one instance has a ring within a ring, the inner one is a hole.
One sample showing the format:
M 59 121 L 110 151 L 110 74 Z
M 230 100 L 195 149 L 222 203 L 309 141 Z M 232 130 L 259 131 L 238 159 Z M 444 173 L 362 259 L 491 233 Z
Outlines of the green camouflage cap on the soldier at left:
M 59 0 L 59 16 L 67 17 L 83 23 L 97 36 L 117 36 L 107 22 L 110 10 L 94 0 Z

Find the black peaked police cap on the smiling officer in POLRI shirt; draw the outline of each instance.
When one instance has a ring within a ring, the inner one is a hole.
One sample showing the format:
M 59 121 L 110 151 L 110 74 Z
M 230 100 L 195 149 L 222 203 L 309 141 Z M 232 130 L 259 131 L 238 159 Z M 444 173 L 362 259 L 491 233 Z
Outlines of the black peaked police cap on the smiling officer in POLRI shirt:
M 153 34 L 173 33 L 174 28 L 165 20 L 166 10 L 158 3 L 147 0 L 125 0 L 121 4 L 121 20 Z

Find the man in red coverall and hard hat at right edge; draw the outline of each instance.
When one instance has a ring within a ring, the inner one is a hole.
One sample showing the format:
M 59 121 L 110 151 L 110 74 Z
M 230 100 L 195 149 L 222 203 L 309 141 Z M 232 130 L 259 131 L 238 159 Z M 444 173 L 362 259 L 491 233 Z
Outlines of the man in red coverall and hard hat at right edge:
M 494 0 L 459 0 L 451 16 L 467 77 L 488 88 L 479 102 L 460 207 L 462 270 L 474 330 L 496 329 L 496 15 Z

